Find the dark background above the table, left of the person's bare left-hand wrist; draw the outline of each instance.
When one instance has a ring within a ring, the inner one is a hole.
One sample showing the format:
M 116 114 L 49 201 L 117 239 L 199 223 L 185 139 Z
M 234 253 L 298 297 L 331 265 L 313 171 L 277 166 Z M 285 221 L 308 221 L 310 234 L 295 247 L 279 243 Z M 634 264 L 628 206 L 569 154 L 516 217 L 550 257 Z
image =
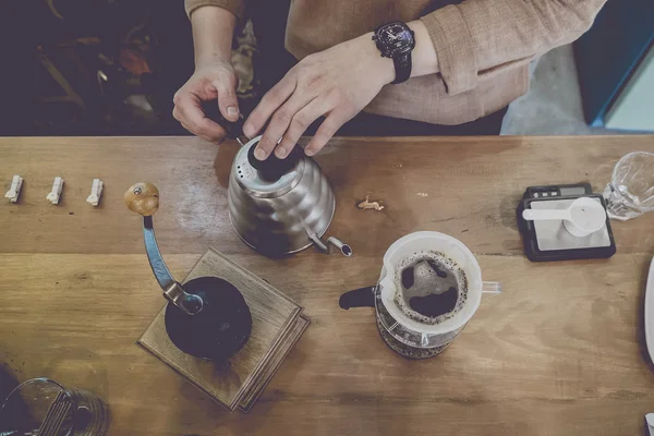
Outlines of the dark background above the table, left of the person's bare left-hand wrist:
M 0 0 L 0 135 L 182 134 L 183 0 Z

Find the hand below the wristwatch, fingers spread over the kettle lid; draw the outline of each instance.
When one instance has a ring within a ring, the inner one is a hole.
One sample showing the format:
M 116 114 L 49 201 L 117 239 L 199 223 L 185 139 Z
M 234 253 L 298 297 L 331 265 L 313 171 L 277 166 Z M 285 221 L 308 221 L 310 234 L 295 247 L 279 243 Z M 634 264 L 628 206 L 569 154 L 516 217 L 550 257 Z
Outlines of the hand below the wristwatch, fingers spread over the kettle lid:
M 293 66 L 263 97 L 247 118 L 243 133 L 255 136 L 270 119 L 255 157 L 265 160 L 281 138 L 275 154 L 284 158 L 306 128 L 326 116 L 306 145 L 305 153 L 312 156 L 393 78 L 392 60 L 379 56 L 372 34 L 348 40 Z

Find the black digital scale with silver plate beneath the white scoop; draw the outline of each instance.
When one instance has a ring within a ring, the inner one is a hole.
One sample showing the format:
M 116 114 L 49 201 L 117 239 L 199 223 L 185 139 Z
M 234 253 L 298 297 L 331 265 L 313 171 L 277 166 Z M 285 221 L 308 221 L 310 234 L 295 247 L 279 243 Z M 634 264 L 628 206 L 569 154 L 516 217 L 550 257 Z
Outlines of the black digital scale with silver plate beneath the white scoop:
M 576 198 L 590 197 L 602 204 L 604 198 L 594 194 L 589 183 L 572 185 L 530 186 L 518 205 L 518 228 L 522 233 L 524 254 L 532 262 L 607 258 L 616 254 L 610 221 L 588 237 L 572 235 L 562 220 L 528 221 L 524 209 L 567 209 Z

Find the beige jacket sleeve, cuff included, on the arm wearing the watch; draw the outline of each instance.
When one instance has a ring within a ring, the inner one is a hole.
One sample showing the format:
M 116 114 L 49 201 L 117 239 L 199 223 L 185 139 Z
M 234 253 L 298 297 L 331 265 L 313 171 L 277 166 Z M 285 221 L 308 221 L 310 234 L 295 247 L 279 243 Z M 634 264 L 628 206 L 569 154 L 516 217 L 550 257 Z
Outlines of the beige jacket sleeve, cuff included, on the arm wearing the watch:
M 528 62 L 592 25 L 606 0 L 465 0 L 422 17 L 450 95 L 485 71 Z

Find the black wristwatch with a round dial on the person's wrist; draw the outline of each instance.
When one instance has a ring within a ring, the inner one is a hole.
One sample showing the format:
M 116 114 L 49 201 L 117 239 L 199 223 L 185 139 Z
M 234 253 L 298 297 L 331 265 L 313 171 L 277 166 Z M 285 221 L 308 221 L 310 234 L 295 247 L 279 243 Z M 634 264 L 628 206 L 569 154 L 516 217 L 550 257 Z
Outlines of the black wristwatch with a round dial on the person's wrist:
M 382 56 L 391 58 L 396 68 L 393 84 L 402 83 L 411 76 L 411 51 L 415 47 L 415 34 L 401 21 L 383 24 L 375 28 L 373 40 Z

